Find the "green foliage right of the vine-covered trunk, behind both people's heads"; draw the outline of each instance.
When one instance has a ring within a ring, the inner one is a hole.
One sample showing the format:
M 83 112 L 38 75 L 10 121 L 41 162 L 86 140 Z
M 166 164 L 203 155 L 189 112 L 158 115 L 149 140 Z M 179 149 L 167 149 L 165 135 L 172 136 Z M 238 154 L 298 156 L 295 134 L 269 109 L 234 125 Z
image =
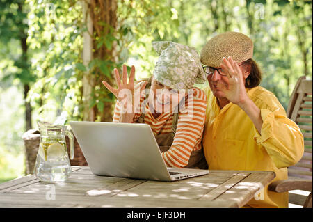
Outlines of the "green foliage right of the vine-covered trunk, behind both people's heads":
M 298 77 L 312 78 L 312 1 L 158 1 L 153 7 L 150 1 L 124 1 L 120 17 L 132 30 L 126 55 L 137 78 L 152 74 L 157 61 L 152 41 L 172 40 L 200 53 L 207 40 L 225 31 L 252 38 L 262 86 L 285 108 Z

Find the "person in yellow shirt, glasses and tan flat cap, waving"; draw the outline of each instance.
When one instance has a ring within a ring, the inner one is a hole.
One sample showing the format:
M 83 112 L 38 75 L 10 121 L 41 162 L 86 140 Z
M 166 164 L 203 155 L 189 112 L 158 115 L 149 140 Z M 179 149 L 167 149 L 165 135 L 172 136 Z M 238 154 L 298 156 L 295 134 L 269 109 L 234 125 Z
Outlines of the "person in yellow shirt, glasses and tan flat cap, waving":
M 275 180 L 284 180 L 303 155 L 303 135 L 275 95 L 259 86 L 252 55 L 252 40 L 236 32 L 216 35 L 201 51 L 209 81 L 204 155 L 209 169 L 274 171 Z M 288 193 L 262 192 L 245 207 L 288 207 Z

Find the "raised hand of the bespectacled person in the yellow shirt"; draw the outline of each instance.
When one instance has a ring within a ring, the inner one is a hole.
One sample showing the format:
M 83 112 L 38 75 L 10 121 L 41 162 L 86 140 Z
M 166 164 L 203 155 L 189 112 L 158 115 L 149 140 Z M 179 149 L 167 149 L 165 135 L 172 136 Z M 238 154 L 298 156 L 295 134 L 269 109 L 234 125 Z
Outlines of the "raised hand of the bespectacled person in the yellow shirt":
M 228 57 L 228 60 L 223 58 L 223 63 L 220 64 L 220 68 L 222 68 L 227 75 L 228 84 L 225 85 L 219 82 L 218 88 L 223 91 L 227 100 L 238 105 L 249 100 L 245 87 L 245 79 L 243 78 L 243 73 L 238 63 L 233 61 L 232 57 Z

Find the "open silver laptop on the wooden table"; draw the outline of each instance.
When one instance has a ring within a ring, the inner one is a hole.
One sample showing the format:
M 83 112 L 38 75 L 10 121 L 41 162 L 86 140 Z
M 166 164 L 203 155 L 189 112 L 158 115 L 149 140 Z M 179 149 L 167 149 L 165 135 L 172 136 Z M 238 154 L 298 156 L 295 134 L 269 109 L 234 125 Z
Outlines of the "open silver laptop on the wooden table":
M 174 181 L 209 173 L 167 168 L 150 125 L 71 121 L 70 126 L 95 175 Z

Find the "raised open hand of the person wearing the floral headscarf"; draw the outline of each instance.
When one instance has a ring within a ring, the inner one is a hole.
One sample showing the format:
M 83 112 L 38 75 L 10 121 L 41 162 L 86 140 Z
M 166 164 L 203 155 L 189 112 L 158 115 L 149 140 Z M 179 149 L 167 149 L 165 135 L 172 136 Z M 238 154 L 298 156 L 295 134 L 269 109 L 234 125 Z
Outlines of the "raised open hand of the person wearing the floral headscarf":
M 129 81 L 127 81 L 127 67 L 123 65 L 122 68 L 122 81 L 120 80 L 120 74 L 118 69 L 114 69 L 114 77 L 118 88 L 113 88 L 106 81 L 102 81 L 102 84 L 106 86 L 108 90 L 111 91 L 117 97 L 121 104 L 121 113 L 136 113 L 136 107 L 139 105 L 140 95 L 143 89 L 145 89 L 145 84 L 141 84 L 140 90 L 134 90 L 134 77 L 135 77 L 135 67 L 131 66 L 131 72 L 129 74 Z M 137 92 L 138 91 L 138 92 Z

